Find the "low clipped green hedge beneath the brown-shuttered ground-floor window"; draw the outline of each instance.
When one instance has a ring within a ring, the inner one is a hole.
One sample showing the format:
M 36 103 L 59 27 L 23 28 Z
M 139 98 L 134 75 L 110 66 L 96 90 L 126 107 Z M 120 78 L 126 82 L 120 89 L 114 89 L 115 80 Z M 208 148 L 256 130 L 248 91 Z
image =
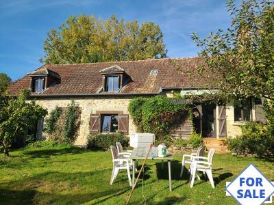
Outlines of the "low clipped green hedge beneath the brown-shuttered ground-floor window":
M 109 149 L 111 145 L 115 145 L 119 141 L 123 147 L 129 146 L 129 137 L 123 133 L 106 133 L 88 136 L 88 148 Z

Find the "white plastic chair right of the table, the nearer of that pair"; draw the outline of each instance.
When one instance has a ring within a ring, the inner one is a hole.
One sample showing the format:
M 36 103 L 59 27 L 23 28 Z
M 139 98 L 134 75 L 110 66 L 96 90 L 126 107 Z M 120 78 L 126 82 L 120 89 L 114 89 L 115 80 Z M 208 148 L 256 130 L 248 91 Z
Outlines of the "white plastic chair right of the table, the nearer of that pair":
M 210 180 L 210 184 L 212 186 L 212 188 L 214 189 L 214 180 L 213 180 L 213 176 L 212 176 L 212 159 L 215 153 L 215 149 L 210 149 L 210 151 L 208 152 L 208 157 L 204 157 L 204 156 L 195 156 L 193 159 L 192 164 L 190 165 L 190 188 L 193 187 L 194 184 L 194 180 L 195 180 L 195 176 L 196 174 L 198 174 L 198 172 L 203 172 L 206 173 L 206 175 L 208 176 L 208 179 Z

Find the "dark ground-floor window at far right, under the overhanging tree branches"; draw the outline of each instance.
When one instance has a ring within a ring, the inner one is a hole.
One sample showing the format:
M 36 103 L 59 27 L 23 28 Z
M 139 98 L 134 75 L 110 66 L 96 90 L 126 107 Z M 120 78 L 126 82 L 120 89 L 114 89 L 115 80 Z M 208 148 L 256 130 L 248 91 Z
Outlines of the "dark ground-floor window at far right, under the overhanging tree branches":
M 242 100 L 234 104 L 234 121 L 247 122 L 251 120 L 251 100 Z

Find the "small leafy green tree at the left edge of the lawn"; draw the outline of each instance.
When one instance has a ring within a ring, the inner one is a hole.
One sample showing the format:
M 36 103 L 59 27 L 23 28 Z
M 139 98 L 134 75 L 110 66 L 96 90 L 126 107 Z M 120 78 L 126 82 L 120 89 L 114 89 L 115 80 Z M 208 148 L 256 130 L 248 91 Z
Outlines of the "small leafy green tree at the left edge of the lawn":
M 23 91 L 17 98 L 0 96 L 0 146 L 9 156 L 10 144 L 18 135 L 23 136 L 27 128 L 33 128 L 47 110 L 34 101 L 27 102 L 29 92 Z

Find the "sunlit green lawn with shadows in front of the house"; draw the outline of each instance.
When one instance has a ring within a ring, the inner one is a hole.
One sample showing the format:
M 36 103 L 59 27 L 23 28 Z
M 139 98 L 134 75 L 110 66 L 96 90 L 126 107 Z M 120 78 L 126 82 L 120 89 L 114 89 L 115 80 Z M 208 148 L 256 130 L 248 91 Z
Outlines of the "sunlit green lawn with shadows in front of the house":
M 225 182 L 232 181 L 249 163 L 274 181 L 273 161 L 216 154 L 216 189 L 206 180 L 195 180 L 190 189 L 188 174 L 179 178 L 181 157 L 175 155 L 172 162 L 171 192 L 167 164 L 162 170 L 160 161 L 149 161 L 144 176 L 147 201 L 142 197 L 141 178 L 132 204 L 236 204 L 232 197 L 225 197 Z M 110 186 L 109 151 L 70 146 L 16 150 L 10 152 L 10 158 L 0 156 L 0 173 L 0 204 L 125 204 L 131 190 L 125 172 L 119 173 Z

